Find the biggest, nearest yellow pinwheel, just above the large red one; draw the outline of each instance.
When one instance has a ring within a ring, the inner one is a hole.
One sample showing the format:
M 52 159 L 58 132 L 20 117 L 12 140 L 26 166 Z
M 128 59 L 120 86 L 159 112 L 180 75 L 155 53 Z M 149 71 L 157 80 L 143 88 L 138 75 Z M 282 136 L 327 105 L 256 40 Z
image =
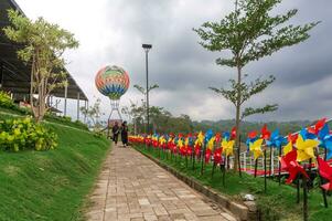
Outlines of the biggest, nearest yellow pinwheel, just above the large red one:
M 298 151 L 298 161 L 304 161 L 307 159 L 314 158 L 313 148 L 318 147 L 320 144 L 319 140 L 315 139 L 303 139 L 301 135 L 299 135 L 297 139 L 297 151 Z

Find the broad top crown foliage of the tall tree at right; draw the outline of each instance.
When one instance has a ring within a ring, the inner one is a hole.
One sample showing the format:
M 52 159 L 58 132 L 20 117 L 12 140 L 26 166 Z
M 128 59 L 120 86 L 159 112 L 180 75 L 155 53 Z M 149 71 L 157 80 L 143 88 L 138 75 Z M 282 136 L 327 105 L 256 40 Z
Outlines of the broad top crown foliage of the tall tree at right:
M 291 46 L 307 40 L 308 32 L 319 22 L 304 25 L 285 23 L 294 17 L 298 10 L 272 17 L 274 10 L 282 0 L 239 0 L 236 10 L 218 22 L 205 22 L 194 29 L 202 38 L 202 46 L 208 51 L 229 50 L 229 59 L 219 57 L 217 64 L 243 67 L 251 61 L 271 55 L 285 46 Z

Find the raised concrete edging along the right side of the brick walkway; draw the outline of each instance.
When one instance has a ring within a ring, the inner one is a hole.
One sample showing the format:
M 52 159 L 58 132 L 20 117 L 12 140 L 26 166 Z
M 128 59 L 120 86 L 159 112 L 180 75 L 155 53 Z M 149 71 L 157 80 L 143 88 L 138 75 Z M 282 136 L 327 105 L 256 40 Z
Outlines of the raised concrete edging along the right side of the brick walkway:
M 136 148 L 133 148 L 136 149 Z M 178 170 L 173 169 L 172 167 L 159 161 L 158 159 L 149 156 L 148 154 L 144 154 L 140 150 L 138 150 L 143 156 L 148 157 L 152 161 L 154 161 L 157 165 L 162 167 L 163 169 L 168 170 L 172 175 L 174 175 L 178 179 L 185 182 L 188 186 L 193 188 L 194 190 L 201 192 L 202 194 L 206 196 L 208 199 L 213 200 L 217 204 L 222 206 L 223 208 L 229 210 L 234 215 L 236 215 L 242 221 L 250 221 L 250 220 L 257 220 L 257 208 L 255 202 L 247 201 L 245 202 L 246 206 L 239 204 L 238 202 L 234 202 L 227 197 L 221 194 L 219 192 L 215 191 L 212 188 L 205 187 L 204 185 L 201 185 L 199 181 L 191 177 L 186 177 L 185 175 L 179 172 Z

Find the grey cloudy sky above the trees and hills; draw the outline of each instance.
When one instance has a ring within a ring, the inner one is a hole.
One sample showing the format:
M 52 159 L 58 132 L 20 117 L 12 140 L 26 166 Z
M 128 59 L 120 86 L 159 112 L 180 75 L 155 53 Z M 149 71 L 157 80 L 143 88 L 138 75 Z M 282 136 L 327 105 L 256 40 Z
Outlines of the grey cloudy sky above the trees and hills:
M 221 53 L 197 44 L 192 28 L 205 21 L 217 21 L 234 7 L 233 0 L 17 0 L 25 14 L 44 17 L 75 33 L 79 49 L 69 51 L 68 71 L 93 102 L 103 98 L 103 110 L 109 102 L 95 87 L 96 72 L 106 64 L 128 71 L 131 85 L 121 104 L 140 102 L 132 87 L 144 84 L 142 43 L 151 43 L 150 83 L 160 88 L 151 92 L 151 105 L 165 107 L 174 115 L 193 119 L 234 118 L 233 105 L 207 90 L 222 87 L 235 77 L 235 70 L 215 64 Z M 322 21 L 304 43 L 283 49 L 270 57 L 249 64 L 251 77 L 274 74 L 277 81 L 247 103 L 261 106 L 278 103 L 279 109 L 250 120 L 289 120 L 332 117 L 332 1 L 283 0 L 277 12 L 299 9 L 292 23 Z M 63 102 L 62 102 L 63 103 Z M 76 103 L 71 102 L 71 114 Z

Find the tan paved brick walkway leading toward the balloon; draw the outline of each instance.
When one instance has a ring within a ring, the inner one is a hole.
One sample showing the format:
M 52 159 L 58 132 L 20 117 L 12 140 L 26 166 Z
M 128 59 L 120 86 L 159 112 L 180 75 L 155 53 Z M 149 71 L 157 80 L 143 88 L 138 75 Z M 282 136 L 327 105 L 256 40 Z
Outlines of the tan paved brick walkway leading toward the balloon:
M 89 221 L 235 220 L 131 148 L 113 149 L 90 199 Z

